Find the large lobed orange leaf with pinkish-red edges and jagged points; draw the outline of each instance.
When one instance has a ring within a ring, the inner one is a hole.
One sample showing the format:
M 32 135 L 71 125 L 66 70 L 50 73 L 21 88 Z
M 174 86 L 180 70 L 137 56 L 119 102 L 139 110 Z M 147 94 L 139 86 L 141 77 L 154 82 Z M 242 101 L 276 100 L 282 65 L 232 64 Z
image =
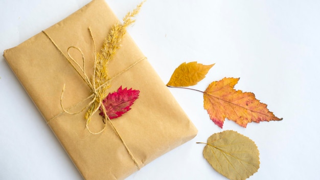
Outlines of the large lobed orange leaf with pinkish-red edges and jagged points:
M 223 78 L 212 82 L 203 94 L 203 106 L 210 119 L 222 128 L 224 119 L 246 127 L 249 122 L 280 121 L 267 109 L 267 105 L 255 98 L 253 93 L 236 91 L 239 78 Z

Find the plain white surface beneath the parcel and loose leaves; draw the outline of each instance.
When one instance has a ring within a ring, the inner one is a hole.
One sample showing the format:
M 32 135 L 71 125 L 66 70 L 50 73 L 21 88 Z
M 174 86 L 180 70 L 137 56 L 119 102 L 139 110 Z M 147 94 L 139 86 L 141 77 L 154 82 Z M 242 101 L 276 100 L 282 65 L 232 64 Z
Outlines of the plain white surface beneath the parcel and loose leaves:
M 88 0 L 0 1 L 0 52 L 73 13 Z M 108 0 L 122 18 L 140 1 Z M 216 63 L 204 90 L 223 77 L 255 93 L 281 122 L 233 129 L 254 140 L 260 169 L 249 179 L 318 179 L 320 141 L 319 1 L 152 1 L 129 33 L 166 83 L 182 62 Z M 81 179 L 31 99 L 0 57 L 0 179 Z M 127 179 L 226 179 L 202 157 L 202 144 L 222 131 L 202 106 L 202 94 L 170 88 L 199 130 Z

